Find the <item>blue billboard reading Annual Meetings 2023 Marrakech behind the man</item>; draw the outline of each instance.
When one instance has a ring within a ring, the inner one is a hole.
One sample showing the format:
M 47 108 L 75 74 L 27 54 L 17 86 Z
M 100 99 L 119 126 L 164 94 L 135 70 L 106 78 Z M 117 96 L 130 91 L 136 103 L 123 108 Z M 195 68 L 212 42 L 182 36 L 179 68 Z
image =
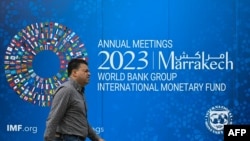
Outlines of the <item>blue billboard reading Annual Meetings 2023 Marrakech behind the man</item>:
M 0 140 L 43 141 L 67 63 L 89 63 L 88 119 L 107 141 L 222 141 L 250 124 L 250 3 L 1 1 Z

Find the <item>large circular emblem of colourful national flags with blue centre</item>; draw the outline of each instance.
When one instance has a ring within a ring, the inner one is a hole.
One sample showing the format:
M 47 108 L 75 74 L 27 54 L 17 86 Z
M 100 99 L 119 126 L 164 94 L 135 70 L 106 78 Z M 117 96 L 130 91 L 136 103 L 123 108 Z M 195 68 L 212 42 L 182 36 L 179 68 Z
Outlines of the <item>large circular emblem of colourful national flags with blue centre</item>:
M 8 45 L 5 75 L 21 99 L 50 106 L 55 88 L 67 79 L 67 64 L 72 58 L 87 60 L 84 44 L 75 32 L 54 22 L 31 24 Z

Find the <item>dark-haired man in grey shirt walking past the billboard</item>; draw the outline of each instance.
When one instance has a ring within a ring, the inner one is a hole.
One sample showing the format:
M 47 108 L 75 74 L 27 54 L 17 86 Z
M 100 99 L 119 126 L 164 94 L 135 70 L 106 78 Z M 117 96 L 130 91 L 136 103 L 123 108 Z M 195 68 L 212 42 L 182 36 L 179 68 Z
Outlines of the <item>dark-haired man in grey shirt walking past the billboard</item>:
M 104 141 L 87 120 L 84 86 L 90 72 L 83 59 L 68 63 L 69 79 L 55 90 L 51 110 L 46 121 L 45 141 Z

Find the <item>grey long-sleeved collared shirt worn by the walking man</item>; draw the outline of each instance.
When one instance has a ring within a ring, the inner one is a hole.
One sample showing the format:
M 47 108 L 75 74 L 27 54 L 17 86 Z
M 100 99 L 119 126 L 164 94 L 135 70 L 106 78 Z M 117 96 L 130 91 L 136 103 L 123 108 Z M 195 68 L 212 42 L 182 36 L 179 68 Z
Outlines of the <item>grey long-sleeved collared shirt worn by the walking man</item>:
M 72 79 L 55 91 L 51 111 L 46 121 L 45 141 L 52 141 L 56 132 L 89 137 L 92 141 L 97 141 L 99 138 L 88 124 L 82 87 Z

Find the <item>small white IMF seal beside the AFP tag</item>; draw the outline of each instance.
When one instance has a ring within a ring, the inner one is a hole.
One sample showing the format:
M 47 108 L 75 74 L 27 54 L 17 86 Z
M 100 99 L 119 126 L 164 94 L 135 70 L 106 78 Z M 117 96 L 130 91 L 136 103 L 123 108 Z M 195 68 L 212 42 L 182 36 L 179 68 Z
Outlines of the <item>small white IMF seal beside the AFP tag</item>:
M 209 131 L 223 134 L 224 125 L 232 124 L 232 114 L 224 106 L 214 106 L 207 111 L 205 124 Z

